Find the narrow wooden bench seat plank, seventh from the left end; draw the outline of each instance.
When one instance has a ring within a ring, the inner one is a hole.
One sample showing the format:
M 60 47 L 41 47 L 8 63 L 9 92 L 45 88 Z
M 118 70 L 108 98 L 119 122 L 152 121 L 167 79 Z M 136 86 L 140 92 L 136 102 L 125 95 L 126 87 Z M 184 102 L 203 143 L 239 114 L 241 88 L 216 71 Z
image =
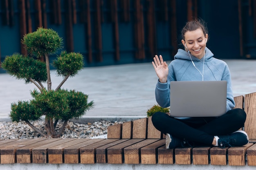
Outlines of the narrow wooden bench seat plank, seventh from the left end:
M 114 139 L 107 139 L 107 140 L 114 140 Z M 117 144 L 121 144 L 122 142 L 125 142 L 125 141 L 128 141 L 128 139 L 119 139 L 110 144 L 96 148 L 96 162 L 97 163 L 107 163 L 108 162 L 107 149 L 112 146 L 115 146 Z

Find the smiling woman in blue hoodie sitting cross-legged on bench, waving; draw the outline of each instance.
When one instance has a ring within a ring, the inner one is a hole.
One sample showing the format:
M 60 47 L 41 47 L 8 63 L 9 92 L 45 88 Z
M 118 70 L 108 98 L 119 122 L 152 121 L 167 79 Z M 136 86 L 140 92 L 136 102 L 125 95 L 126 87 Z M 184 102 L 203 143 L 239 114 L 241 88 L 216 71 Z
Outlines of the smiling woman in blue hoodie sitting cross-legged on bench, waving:
M 166 134 L 166 148 L 184 144 L 206 144 L 219 147 L 243 146 L 249 142 L 243 127 L 246 113 L 235 106 L 231 75 L 227 64 L 213 57 L 206 47 L 207 27 L 202 20 L 187 22 L 182 29 L 184 49 L 177 54 L 168 66 L 161 55 L 155 55 L 152 62 L 158 81 L 155 88 L 157 103 L 163 108 L 170 106 L 171 81 L 227 81 L 227 113 L 220 117 L 175 118 L 157 112 L 152 117 L 155 128 Z M 198 101 L 200 102 L 200 101 Z M 171 109 L 171 108 L 170 108 Z

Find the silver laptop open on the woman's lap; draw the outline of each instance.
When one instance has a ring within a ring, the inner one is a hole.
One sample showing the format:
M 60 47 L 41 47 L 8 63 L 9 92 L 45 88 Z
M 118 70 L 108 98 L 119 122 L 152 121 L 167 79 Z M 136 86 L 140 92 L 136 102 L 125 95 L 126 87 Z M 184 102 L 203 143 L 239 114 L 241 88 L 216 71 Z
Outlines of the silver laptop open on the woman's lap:
M 219 117 L 226 113 L 227 81 L 173 81 L 172 117 Z

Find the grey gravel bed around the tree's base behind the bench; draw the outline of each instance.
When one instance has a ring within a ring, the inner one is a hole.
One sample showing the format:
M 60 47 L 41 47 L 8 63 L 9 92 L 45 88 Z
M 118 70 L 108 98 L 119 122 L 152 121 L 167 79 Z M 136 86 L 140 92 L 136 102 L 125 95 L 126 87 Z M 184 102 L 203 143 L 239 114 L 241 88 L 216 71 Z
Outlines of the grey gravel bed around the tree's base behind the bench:
M 79 124 L 68 122 L 61 138 L 95 138 L 107 135 L 108 126 L 121 124 L 120 121 L 97 121 L 88 124 Z M 45 132 L 44 121 L 34 121 L 32 123 L 36 128 Z M 56 129 L 61 127 L 62 123 L 57 124 Z M 43 138 L 29 125 L 23 122 L 0 122 L 0 139 L 36 139 Z

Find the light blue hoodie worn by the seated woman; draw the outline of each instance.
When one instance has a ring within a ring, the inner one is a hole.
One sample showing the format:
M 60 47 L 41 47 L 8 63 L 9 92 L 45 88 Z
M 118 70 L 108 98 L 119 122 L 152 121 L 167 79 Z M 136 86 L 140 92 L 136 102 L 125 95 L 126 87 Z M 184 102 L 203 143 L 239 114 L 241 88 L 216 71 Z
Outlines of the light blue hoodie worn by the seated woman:
M 213 53 L 206 47 L 205 56 L 199 60 L 191 55 L 198 70 L 204 72 L 204 81 L 226 80 L 227 81 L 227 111 L 235 107 L 231 75 L 227 64 L 213 57 Z M 168 66 L 169 73 L 166 83 L 157 81 L 155 98 L 159 106 L 165 108 L 170 106 L 170 82 L 171 81 L 202 81 L 201 73 L 193 66 L 189 53 L 178 49 L 177 54 Z M 203 71 L 204 63 L 204 71 Z

